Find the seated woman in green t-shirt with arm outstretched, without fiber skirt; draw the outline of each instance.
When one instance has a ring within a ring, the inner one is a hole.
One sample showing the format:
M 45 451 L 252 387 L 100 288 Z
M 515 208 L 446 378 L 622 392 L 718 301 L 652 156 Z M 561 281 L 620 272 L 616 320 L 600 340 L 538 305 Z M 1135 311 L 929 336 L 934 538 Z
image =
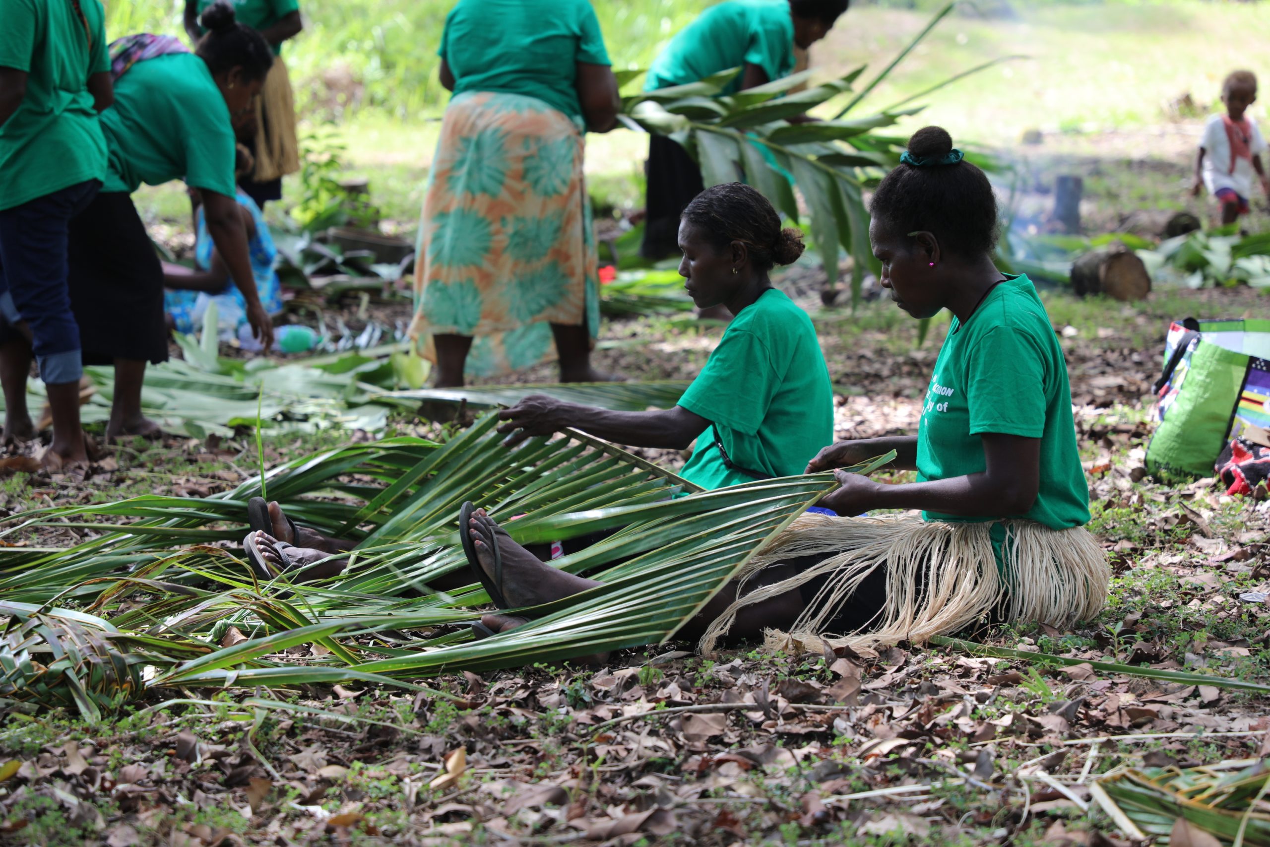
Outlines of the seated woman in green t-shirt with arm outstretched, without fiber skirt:
M 658 411 L 612 411 L 536 395 L 499 413 L 519 441 L 572 427 L 631 447 L 683 450 L 683 479 L 716 489 L 799 474 L 833 439 L 833 386 L 812 319 L 768 272 L 803 253 L 798 230 L 749 185 L 701 192 L 683 210 L 679 274 L 701 309 L 726 306 L 728 325 L 678 403 Z

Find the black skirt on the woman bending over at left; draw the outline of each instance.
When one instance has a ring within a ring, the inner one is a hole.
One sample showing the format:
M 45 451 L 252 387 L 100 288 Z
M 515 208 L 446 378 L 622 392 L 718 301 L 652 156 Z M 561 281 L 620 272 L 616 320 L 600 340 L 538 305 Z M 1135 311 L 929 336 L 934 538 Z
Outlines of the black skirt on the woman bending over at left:
M 132 197 L 98 194 L 71 221 L 67 258 L 84 364 L 166 362 L 163 265 Z

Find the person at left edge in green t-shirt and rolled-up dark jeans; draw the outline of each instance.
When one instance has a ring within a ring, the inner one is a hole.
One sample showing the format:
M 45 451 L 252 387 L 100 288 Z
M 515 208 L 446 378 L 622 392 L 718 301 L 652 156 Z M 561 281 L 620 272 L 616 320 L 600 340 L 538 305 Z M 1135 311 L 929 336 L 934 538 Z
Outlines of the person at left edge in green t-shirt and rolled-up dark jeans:
M 14 0 L 0 27 L 0 381 L 4 438 L 36 434 L 27 410 L 34 353 L 53 417 L 43 464 L 80 472 L 79 328 L 66 287 L 70 220 L 105 177 L 98 113 L 110 104 L 98 0 Z

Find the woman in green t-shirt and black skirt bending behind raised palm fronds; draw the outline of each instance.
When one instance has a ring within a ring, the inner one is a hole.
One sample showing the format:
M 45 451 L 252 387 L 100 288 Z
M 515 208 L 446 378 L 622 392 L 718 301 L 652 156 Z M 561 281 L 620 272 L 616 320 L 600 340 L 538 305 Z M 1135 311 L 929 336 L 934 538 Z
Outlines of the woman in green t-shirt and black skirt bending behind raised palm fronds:
M 848 0 L 725 0 L 681 29 L 648 69 L 645 91 L 697 83 L 739 67 L 724 94 L 789 76 L 794 48 L 808 50 L 828 34 Z M 672 138 L 649 136 L 648 190 L 641 254 L 676 251 L 679 213 L 705 183 L 692 156 Z

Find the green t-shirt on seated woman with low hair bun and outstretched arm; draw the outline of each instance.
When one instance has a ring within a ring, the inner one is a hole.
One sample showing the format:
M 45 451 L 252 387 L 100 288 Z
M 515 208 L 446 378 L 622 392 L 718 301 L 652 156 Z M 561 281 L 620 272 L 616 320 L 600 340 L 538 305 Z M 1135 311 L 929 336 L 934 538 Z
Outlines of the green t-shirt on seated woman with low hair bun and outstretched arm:
M 784 292 L 740 310 L 679 405 L 711 422 L 681 474 L 705 489 L 801 474 L 833 441 L 833 386 L 812 319 Z

